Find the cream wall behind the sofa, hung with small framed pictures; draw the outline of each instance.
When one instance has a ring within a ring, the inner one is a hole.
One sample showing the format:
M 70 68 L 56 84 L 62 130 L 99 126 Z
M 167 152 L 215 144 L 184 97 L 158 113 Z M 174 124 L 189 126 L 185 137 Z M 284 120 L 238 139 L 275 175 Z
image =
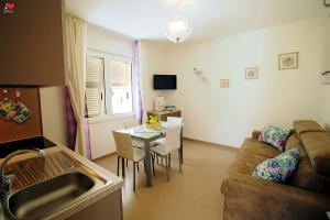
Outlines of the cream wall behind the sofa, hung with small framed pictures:
M 321 38 L 317 19 L 178 46 L 164 54 L 168 70 L 178 75 L 178 89 L 166 92 L 166 103 L 183 110 L 185 136 L 238 147 L 265 124 L 319 121 Z M 288 52 L 299 52 L 299 68 L 278 70 L 278 54 Z M 244 69 L 253 66 L 260 78 L 245 80 Z M 207 75 L 206 82 L 194 67 Z M 229 89 L 220 88 L 221 78 L 230 79 Z

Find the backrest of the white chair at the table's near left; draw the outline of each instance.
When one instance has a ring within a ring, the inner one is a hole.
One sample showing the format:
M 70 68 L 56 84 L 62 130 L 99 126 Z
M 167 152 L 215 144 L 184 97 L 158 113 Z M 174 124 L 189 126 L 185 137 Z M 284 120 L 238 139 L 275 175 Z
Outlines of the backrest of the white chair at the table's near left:
M 112 131 L 112 134 L 116 142 L 117 154 L 133 161 L 134 156 L 131 134 L 117 131 Z

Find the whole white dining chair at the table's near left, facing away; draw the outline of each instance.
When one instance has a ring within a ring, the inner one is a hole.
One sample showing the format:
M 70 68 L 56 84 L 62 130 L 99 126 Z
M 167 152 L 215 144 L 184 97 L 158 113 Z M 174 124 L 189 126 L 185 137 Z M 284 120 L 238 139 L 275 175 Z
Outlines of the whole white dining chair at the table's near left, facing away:
M 144 150 L 133 147 L 132 139 L 129 133 L 112 131 L 117 147 L 117 176 L 119 176 L 119 164 L 122 158 L 122 177 L 124 177 L 124 160 L 133 162 L 133 190 L 135 191 L 135 167 L 139 162 L 144 160 Z M 145 165 L 145 163 L 144 163 Z M 153 167 L 154 168 L 154 167 Z

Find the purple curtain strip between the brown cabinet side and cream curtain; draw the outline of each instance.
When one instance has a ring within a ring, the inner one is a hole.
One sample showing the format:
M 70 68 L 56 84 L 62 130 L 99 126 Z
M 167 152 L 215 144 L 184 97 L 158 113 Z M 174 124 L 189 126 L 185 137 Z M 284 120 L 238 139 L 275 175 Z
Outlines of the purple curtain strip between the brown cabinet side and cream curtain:
M 77 120 L 72 105 L 70 91 L 66 86 L 65 89 L 65 111 L 66 111 L 66 125 L 67 125 L 67 146 L 75 151 L 76 136 L 77 136 Z

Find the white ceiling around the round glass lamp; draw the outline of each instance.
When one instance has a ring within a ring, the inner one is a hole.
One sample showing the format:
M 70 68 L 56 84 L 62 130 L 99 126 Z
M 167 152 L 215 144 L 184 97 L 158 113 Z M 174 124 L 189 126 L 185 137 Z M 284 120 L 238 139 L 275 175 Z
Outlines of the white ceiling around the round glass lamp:
M 194 30 L 188 42 L 323 16 L 322 0 L 66 0 L 69 13 L 143 40 L 165 40 L 166 20 L 179 13 Z

